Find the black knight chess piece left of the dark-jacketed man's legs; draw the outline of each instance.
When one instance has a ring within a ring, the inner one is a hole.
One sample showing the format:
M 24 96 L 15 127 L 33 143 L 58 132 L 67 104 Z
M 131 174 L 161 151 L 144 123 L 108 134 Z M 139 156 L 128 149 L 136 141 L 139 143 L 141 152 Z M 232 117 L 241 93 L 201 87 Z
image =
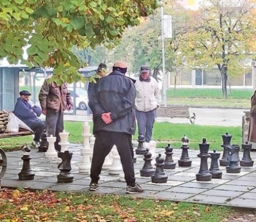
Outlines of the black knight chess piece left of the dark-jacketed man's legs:
M 62 162 L 58 164 L 58 169 L 61 171 L 60 174 L 57 175 L 58 183 L 72 183 L 73 175 L 70 173 L 71 171 L 71 158 L 72 153 L 66 150 L 64 153 L 59 152 L 58 157 L 62 159 Z

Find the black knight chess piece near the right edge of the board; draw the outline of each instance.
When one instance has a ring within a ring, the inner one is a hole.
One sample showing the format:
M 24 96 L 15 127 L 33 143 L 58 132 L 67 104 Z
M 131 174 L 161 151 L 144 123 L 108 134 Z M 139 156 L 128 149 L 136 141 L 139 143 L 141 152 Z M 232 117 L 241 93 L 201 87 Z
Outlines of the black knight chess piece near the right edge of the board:
M 227 150 L 229 152 L 229 165 L 226 167 L 227 173 L 240 173 L 241 167 L 239 165 L 239 145 L 227 145 Z

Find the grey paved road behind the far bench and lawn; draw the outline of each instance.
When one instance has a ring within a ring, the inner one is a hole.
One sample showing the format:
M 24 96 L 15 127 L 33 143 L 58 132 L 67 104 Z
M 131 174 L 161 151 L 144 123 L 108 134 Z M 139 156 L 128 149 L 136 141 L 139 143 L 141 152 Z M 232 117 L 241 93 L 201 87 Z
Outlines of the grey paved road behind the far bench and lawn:
M 205 108 L 190 108 L 191 113 L 196 114 L 195 124 L 198 125 L 223 125 L 223 126 L 242 126 L 242 116 L 244 111 L 248 109 L 205 109 Z M 65 120 L 73 121 L 92 121 L 91 115 L 88 116 L 86 111 L 77 110 L 77 115 L 65 115 Z M 189 119 L 171 119 L 171 118 L 156 118 L 157 122 L 170 123 L 190 123 Z

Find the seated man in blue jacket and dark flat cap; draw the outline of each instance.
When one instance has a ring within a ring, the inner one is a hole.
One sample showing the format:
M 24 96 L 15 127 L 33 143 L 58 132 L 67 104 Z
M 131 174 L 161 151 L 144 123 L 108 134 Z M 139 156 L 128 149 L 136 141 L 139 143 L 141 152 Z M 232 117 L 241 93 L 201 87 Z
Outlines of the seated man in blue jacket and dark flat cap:
M 17 99 L 13 113 L 35 132 L 35 138 L 32 145 L 35 148 L 38 148 L 40 147 L 41 135 L 46 127 L 45 121 L 38 118 L 42 114 L 42 110 L 29 100 L 31 93 L 27 90 L 22 90 L 19 92 L 19 95 L 20 97 Z

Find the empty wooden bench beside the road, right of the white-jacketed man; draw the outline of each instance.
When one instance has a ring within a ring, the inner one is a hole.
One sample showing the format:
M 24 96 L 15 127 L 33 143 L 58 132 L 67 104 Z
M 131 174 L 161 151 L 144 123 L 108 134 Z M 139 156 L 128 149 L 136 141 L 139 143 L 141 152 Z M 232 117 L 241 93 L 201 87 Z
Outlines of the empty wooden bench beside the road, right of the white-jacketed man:
M 157 117 L 186 118 L 191 124 L 195 123 L 195 113 L 189 112 L 189 107 L 159 107 L 156 109 Z

